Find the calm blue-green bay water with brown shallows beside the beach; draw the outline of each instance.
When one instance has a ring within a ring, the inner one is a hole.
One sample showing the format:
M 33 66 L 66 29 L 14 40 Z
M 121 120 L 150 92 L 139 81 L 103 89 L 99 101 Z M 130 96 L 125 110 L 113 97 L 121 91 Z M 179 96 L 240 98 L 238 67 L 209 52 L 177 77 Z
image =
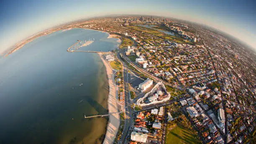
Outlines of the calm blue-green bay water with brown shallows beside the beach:
M 36 38 L 0 59 L 0 143 L 101 143 L 108 117 L 108 79 L 96 53 L 67 52 L 77 40 L 94 39 L 79 50 L 110 51 L 117 39 L 96 30 L 72 29 Z

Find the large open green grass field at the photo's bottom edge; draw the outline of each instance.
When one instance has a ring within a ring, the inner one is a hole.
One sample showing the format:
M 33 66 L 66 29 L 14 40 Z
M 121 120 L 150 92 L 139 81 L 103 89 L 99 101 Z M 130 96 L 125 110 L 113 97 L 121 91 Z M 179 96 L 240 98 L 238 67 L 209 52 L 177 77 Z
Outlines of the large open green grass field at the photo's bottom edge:
M 195 130 L 187 129 L 181 124 L 174 126 L 166 135 L 166 144 L 201 144 Z

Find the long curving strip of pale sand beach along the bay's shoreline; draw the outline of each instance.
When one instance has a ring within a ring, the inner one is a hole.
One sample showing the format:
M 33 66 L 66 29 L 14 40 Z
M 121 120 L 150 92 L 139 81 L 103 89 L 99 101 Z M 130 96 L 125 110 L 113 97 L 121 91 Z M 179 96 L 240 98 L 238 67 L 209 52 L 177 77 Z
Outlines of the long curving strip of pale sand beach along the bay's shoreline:
M 108 112 L 110 116 L 103 144 L 113 144 L 120 125 L 120 116 L 118 114 L 118 107 L 116 102 L 118 97 L 118 88 L 114 84 L 114 73 L 110 65 L 103 59 L 101 53 L 98 53 L 98 55 L 100 55 L 100 58 L 106 67 L 109 84 Z

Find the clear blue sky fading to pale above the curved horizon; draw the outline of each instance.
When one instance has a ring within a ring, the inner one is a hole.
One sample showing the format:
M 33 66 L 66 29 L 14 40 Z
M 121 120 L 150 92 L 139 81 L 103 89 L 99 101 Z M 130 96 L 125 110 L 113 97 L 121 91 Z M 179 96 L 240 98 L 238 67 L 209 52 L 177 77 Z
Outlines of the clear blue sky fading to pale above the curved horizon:
M 159 15 L 202 23 L 256 50 L 253 0 L 1 0 L 0 54 L 20 40 L 66 22 L 105 15 Z

